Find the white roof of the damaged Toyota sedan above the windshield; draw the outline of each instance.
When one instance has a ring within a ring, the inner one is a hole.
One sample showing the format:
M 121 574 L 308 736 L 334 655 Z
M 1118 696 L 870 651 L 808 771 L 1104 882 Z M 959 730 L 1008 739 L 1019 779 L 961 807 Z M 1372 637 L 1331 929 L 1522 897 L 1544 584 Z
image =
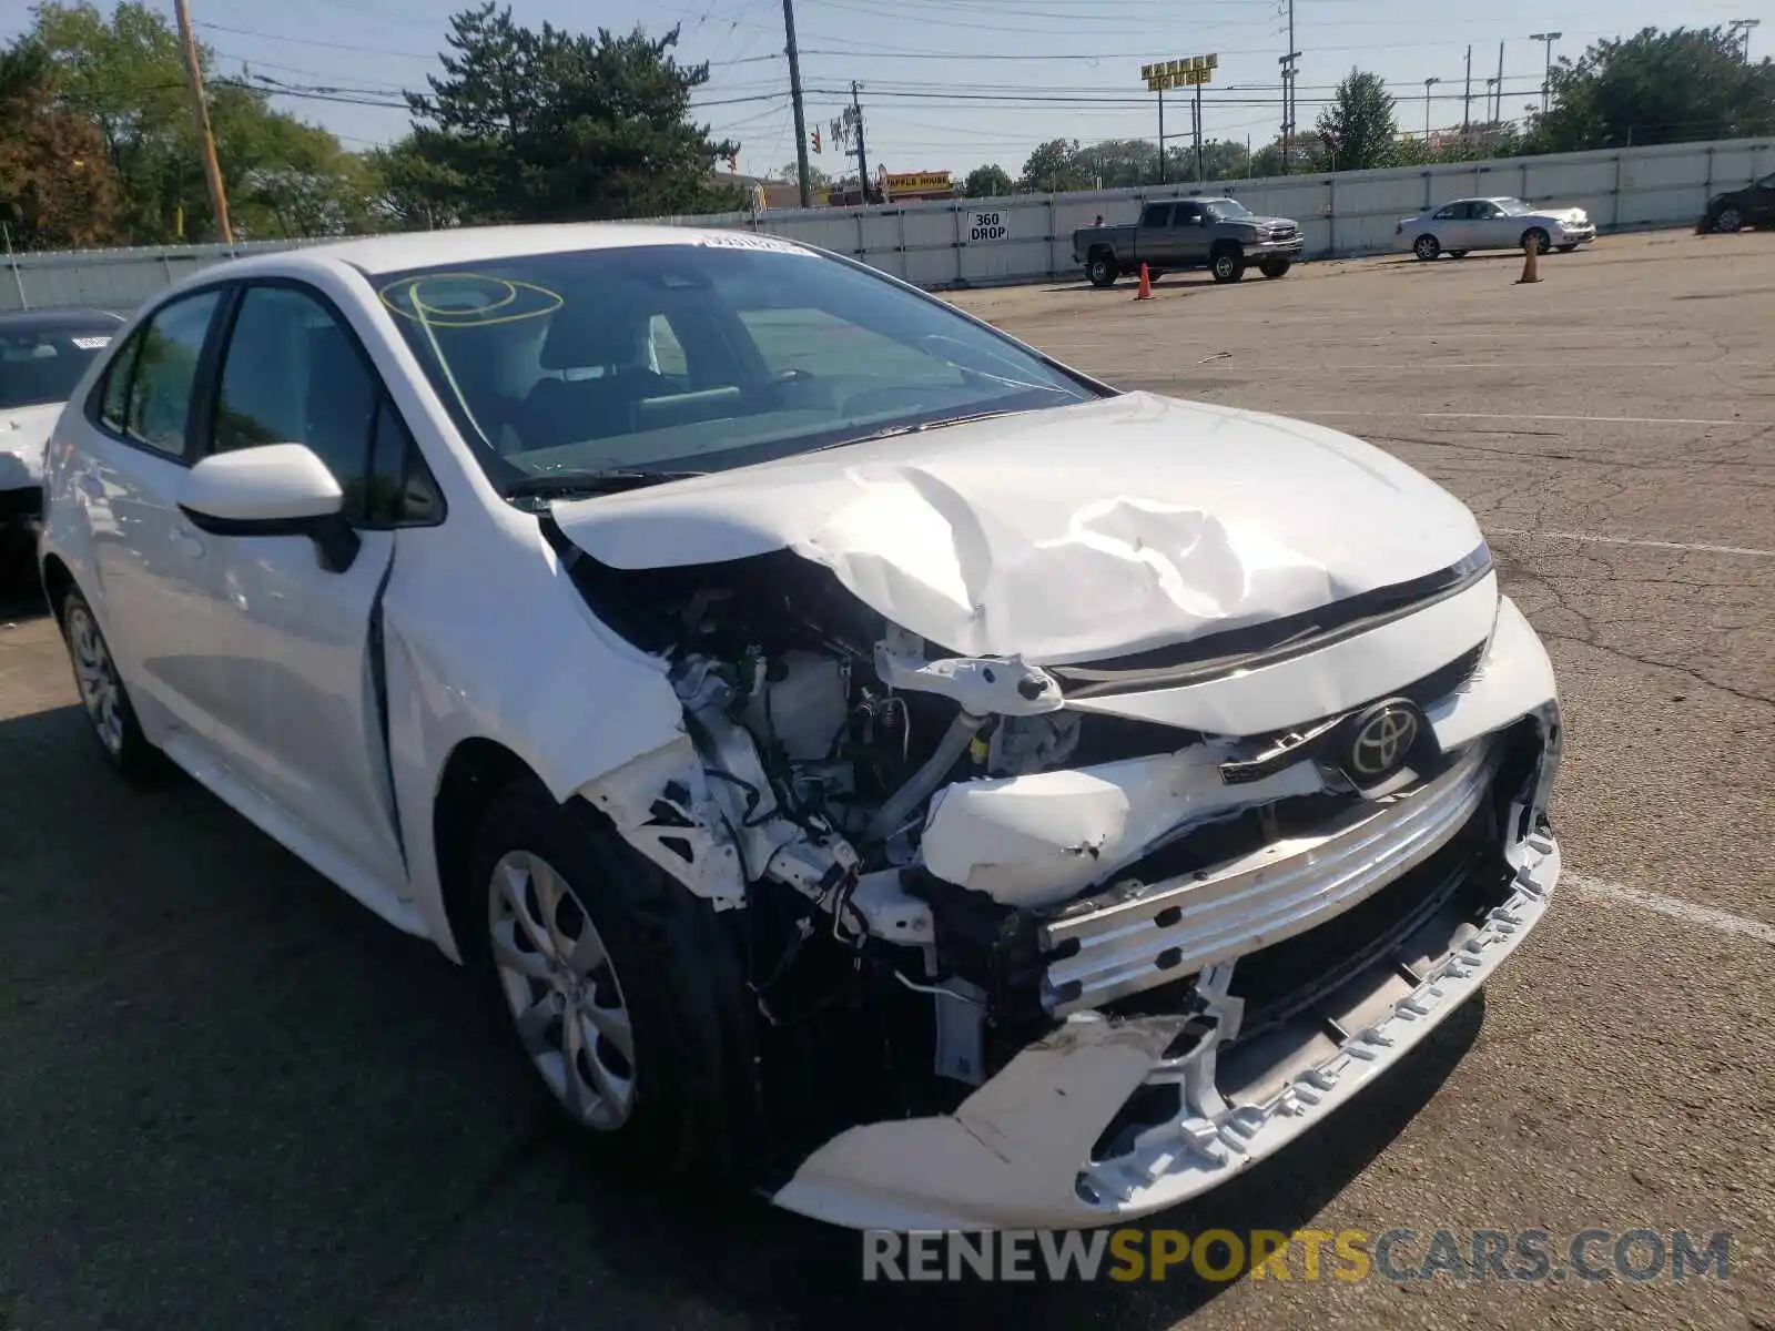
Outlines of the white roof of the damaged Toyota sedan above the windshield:
M 229 264 L 229 272 L 243 273 L 247 268 L 305 266 L 305 261 L 339 261 L 366 273 L 394 273 L 403 268 L 440 268 L 446 264 L 486 263 L 490 259 L 515 259 L 531 254 L 559 254 L 563 250 L 699 245 L 710 238 L 731 236 L 735 231 L 753 234 L 744 227 L 722 231 L 717 227 L 673 227 L 632 222 L 447 227 L 444 231 L 415 231 L 398 236 L 364 236 L 327 245 L 305 245 L 300 250 L 280 250 L 238 259 Z M 777 238 L 761 236 L 761 240 L 774 241 Z

